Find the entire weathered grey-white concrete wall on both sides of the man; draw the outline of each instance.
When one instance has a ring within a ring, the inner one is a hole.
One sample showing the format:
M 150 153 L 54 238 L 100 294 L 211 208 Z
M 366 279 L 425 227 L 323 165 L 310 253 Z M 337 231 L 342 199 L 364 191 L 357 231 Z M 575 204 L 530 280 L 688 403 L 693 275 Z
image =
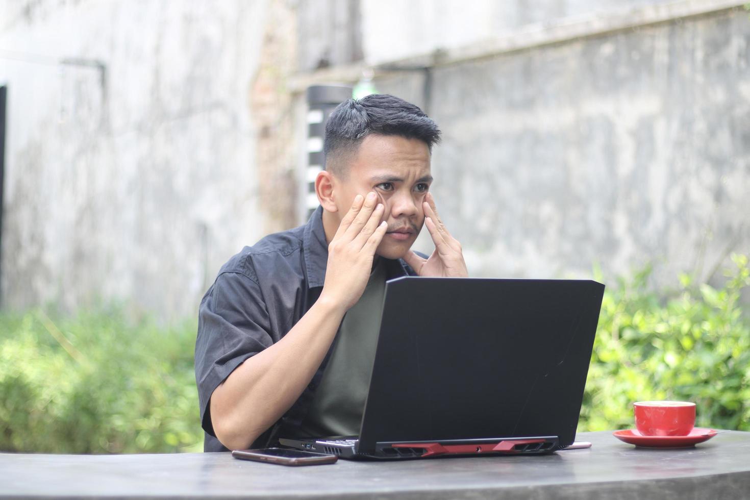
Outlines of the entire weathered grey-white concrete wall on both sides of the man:
M 750 251 L 750 20 L 638 26 L 678 4 L 706 2 L 0 1 L 1 305 L 194 316 L 229 256 L 304 222 L 295 80 L 631 10 L 626 30 L 376 84 L 443 128 L 434 192 L 473 275 L 709 274 Z

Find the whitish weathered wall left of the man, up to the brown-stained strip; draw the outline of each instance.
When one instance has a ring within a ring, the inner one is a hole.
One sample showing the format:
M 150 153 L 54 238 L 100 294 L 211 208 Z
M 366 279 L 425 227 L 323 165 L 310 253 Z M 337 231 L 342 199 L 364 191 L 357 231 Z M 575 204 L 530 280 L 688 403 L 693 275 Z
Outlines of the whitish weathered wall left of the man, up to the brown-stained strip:
M 266 1 L 4 2 L 4 307 L 194 316 L 263 235 L 251 87 Z M 65 58 L 101 61 L 95 67 Z

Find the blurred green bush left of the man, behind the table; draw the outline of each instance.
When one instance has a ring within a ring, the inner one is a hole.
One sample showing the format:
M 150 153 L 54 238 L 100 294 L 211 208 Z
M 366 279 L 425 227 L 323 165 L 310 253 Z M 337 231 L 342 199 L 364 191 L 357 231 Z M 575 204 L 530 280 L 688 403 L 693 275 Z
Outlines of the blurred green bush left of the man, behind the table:
M 118 308 L 0 315 L 0 450 L 200 451 L 195 332 Z

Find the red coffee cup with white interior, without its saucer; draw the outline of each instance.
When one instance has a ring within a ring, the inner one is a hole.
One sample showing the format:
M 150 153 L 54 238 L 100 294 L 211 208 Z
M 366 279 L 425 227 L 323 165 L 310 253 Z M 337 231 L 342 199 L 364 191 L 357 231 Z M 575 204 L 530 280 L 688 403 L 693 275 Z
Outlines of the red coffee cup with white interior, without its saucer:
M 635 428 L 643 436 L 687 436 L 695 425 L 695 403 L 639 401 L 633 406 Z

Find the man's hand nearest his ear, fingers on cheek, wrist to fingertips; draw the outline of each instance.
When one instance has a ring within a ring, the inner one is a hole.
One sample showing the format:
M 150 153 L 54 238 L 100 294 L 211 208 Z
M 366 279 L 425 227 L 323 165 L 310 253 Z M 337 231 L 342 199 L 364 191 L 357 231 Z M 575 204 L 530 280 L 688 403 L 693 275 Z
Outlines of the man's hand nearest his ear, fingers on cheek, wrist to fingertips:
M 383 209 L 375 193 L 366 198 L 358 194 L 329 244 L 326 282 L 320 298 L 344 312 L 359 301 L 370 279 L 375 250 L 388 229 L 385 220 L 378 224 Z

